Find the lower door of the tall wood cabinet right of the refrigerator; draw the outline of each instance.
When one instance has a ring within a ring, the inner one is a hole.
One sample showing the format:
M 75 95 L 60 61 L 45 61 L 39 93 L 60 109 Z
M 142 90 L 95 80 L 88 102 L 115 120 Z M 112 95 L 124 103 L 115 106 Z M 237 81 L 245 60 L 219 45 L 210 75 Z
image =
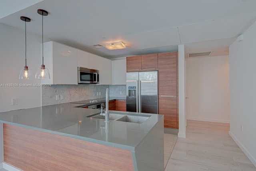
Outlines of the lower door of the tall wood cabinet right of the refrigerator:
M 164 127 L 177 129 L 177 97 L 158 97 L 158 113 L 164 115 Z

